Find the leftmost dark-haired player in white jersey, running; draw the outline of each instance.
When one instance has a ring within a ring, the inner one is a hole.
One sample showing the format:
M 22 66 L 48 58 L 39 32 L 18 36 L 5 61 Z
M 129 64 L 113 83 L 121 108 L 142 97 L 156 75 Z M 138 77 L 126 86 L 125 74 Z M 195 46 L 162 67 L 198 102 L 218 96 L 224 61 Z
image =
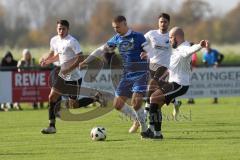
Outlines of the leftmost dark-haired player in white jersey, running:
M 42 129 L 43 134 L 56 133 L 56 106 L 62 95 L 76 99 L 81 86 L 81 74 L 78 69 L 83 60 L 79 42 L 68 34 L 69 23 L 67 20 L 57 21 L 57 35 L 50 41 L 50 52 L 41 60 L 41 66 L 59 61 L 61 69 L 58 77 L 52 84 L 49 94 L 49 126 Z

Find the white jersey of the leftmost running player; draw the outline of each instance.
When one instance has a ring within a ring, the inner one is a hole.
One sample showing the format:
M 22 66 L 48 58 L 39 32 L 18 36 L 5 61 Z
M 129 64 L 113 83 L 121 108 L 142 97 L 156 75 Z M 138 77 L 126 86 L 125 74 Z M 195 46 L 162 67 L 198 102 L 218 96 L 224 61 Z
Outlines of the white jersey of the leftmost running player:
M 58 35 L 54 36 L 50 41 L 50 50 L 59 55 L 61 67 L 68 65 L 67 62 L 71 63 L 71 60 L 73 62 L 77 54 L 82 52 L 79 42 L 71 35 L 67 35 L 63 39 Z M 76 81 L 81 78 L 81 73 L 79 68 L 75 68 L 67 75 L 63 76 L 59 73 L 59 76 L 66 81 Z

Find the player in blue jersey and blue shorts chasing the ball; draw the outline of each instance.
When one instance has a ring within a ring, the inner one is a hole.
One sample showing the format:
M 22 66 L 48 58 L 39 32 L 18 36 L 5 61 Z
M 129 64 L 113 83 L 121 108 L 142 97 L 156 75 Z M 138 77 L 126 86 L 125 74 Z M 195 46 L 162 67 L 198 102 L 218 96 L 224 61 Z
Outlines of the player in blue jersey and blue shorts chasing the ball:
M 114 107 L 125 115 L 136 119 L 141 126 L 141 136 L 146 138 L 147 126 L 144 109 L 141 107 L 148 82 L 148 63 L 141 59 L 143 45 L 146 39 L 143 34 L 132 31 L 127 26 L 124 16 L 117 16 L 112 20 L 112 27 L 117 33 L 106 44 L 94 50 L 80 67 L 88 64 L 96 57 L 102 57 L 105 52 L 118 48 L 123 62 L 123 75 L 115 91 Z M 133 109 L 126 104 L 131 98 Z

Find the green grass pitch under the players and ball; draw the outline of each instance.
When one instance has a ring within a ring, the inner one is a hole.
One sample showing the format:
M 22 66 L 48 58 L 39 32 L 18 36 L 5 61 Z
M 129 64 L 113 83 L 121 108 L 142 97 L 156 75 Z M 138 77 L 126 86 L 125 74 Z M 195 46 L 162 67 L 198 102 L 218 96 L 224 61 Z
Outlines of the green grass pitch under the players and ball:
M 57 134 L 42 135 L 47 110 L 0 112 L 0 160 L 237 160 L 240 159 L 240 98 L 183 100 L 179 121 L 164 106 L 164 140 L 129 134 L 130 120 L 116 111 L 85 122 L 57 120 Z M 84 110 L 84 109 L 79 109 Z M 90 139 L 95 126 L 107 129 L 106 141 Z

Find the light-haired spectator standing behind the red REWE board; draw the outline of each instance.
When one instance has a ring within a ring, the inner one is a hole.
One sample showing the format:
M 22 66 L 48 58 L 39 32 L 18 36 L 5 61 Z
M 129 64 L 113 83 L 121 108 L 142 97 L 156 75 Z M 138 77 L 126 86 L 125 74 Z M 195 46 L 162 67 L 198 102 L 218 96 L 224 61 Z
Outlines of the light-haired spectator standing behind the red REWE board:
M 35 59 L 32 58 L 31 52 L 29 49 L 24 49 L 22 52 L 22 58 L 18 61 L 17 64 L 18 67 L 18 71 L 21 72 L 23 70 L 32 70 L 35 69 L 34 67 L 36 67 L 35 64 Z M 43 108 L 43 103 L 40 102 L 39 103 L 40 108 Z M 34 102 L 33 103 L 33 108 L 37 109 L 38 108 L 38 103 Z

